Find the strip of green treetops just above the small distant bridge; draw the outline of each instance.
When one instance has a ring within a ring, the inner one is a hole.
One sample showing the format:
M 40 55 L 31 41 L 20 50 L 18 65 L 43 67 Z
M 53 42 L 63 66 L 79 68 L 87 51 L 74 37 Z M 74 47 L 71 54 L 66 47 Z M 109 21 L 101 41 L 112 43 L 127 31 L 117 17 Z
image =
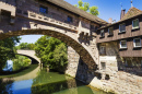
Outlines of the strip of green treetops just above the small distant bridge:
M 28 44 L 28 43 L 21 43 L 19 46 L 16 46 L 16 49 L 28 49 L 34 50 L 35 44 Z

